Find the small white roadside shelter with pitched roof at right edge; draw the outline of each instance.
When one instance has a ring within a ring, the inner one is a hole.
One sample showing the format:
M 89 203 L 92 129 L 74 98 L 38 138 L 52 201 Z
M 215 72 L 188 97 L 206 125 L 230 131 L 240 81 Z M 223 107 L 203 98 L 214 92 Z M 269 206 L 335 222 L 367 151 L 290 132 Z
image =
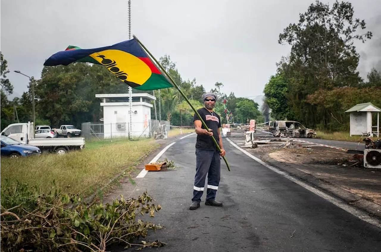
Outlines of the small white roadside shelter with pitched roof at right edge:
M 379 112 L 381 109 L 372 103 L 356 104 L 352 108 L 345 111 L 350 113 L 349 122 L 349 135 L 362 135 L 363 133 L 370 133 L 371 136 L 376 134 L 379 136 Z M 377 124 L 372 125 L 372 113 L 377 113 Z

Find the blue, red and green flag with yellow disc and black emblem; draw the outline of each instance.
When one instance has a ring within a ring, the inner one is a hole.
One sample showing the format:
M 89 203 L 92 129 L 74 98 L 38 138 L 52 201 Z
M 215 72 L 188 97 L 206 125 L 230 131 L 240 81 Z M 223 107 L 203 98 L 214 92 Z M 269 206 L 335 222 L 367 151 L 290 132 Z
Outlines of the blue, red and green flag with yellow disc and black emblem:
M 173 87 L 136 39 L 93 49 L 69 46 L 65 51 L 59 51 L 50 56 L 44 66 L 67 66 L 73 62 L 102 65 L 135 89 L 155 90 Z

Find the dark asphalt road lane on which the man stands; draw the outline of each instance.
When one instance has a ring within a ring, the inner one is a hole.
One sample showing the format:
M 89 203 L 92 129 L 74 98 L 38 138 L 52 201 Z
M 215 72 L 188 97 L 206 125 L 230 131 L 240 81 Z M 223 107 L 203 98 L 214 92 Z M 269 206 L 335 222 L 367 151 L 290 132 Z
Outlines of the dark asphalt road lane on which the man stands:
M 217 193 L 217 200 L 224 206 L 206 206 L 204 194 L 201 207 L 189 210 L 195 138 L 192 135 L 177 140 L 161 157 L 174 160 L 179 166 L 176 170 L 148 172 L 144 178 L 135 179 L 133 196 L 148 189 L 163 207 L 149 220 L 165 228 L 146 238 L 167 243 L 157 251 L 380 250 L 379 228 L 253 161 L 226 139 L 231 172 L 221 160 Z

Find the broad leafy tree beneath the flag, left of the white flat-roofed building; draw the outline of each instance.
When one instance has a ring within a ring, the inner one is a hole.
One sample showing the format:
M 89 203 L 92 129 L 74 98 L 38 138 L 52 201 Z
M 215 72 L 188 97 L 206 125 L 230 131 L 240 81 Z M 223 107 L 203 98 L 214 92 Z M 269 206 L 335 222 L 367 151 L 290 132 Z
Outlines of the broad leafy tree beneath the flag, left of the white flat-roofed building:
M 53 127 L 99 120 L 100 101 L 96 93 L 127 93 L 128 87 L 103 66 L 74 63 L 44 67 L 35 94 L 36 110 Z

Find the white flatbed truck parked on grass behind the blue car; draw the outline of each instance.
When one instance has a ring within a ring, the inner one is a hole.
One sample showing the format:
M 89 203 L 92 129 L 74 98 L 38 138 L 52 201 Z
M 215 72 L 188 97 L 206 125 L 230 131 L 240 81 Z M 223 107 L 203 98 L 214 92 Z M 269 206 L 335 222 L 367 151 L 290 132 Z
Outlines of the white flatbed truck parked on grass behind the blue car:
M 85 148 L 85 138 L 34 138 L 32 122 L 8 125 L 0 135 L 8 136 L 24 144 L 37 146 L 42 152 L 62 155 L 70 150 Z

